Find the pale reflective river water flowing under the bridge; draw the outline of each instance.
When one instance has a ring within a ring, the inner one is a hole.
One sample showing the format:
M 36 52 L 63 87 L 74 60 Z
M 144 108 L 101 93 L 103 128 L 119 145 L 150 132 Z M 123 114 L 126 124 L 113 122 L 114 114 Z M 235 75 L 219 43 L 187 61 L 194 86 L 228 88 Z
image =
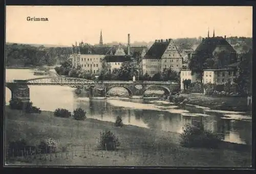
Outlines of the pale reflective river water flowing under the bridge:
M 7 69 L 6 80 L 38 78 L 33 69 Z M 69 86 L 31 85 L 30 99 L 42 111 L 66 108 L 73 111 L 81 107 L 86 116 L 114 122 L 121 116 L 124 124 L 131 124 L 168 132 L 182 132 L 186 123 L 200 121 L 204 127 L 222 135 L 223 141 L 251 144 L 251 116 L 235 112 L 205 111 L 194 106 L 176 106 L 156 99 L 94 99 L 76 95 Z M 6 104 L 11 91 L 6 89 Z

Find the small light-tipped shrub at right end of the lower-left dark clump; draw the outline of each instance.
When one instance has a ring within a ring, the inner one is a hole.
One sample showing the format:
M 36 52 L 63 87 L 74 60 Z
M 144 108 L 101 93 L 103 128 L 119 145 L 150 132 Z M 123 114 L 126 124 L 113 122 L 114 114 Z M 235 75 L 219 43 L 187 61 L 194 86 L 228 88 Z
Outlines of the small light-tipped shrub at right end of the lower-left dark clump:
M 44 139 L 40 142 L 38 145 L 38 148 L 40 149 L 41 153 L 47 154 L 47 153 L 55 153 L 57 151 L 57 141 L 53 138 Z

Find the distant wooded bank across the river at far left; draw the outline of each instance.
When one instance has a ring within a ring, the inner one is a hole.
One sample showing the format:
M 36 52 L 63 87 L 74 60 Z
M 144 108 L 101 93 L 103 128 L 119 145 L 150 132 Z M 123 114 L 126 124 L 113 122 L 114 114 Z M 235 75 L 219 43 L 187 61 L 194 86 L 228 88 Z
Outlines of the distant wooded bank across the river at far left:
M 65 47 L 34 47 L 25 44 L 6 45 L 7 67 L 53 66 L 68 59 L 71 48 Z

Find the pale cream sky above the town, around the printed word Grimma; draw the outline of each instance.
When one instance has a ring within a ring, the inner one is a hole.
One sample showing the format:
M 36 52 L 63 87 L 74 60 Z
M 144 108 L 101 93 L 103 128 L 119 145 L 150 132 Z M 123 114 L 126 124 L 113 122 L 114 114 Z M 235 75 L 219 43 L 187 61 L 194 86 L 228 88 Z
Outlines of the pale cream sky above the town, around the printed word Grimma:
M 47 17 L 49 21 L 28 21 Z M 6 42 L 71 46 L 166 38 L 252 37 L 249 6 L 6 6 Z

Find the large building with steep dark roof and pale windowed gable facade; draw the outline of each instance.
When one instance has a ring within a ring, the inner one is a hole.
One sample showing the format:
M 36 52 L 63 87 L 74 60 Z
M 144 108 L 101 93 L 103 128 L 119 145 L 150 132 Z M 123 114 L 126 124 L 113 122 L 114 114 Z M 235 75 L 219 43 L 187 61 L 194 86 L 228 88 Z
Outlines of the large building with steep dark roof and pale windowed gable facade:
M 179 72 L 182 68 L 182 56 L 173 39 L 155 40 L 142 58 L 143 74 L 153 76 L 169 68 Z

